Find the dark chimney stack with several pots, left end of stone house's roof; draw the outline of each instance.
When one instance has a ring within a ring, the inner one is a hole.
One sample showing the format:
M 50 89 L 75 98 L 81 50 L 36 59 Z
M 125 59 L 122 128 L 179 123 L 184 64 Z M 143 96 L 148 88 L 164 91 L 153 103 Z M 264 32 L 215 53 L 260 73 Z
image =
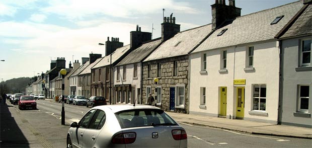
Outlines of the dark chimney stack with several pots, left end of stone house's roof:
M 180 25 L 176 24 L 176 18 L 172 17 L 173 13 L 170 17 L 164 17 L 164 23 L 162 23 L 162 41 L 166 41 L 180 32 Z

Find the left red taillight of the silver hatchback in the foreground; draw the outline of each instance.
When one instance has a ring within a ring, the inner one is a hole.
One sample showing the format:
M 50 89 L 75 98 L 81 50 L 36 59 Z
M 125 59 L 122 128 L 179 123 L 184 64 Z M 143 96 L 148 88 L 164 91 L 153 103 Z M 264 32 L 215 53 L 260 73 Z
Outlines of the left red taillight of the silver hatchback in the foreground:
M 113 137 L 112 143 L 114 144 L 130 144 L 135 141 L 136 133 L 128 132 L 128 133 L 120 133 Z

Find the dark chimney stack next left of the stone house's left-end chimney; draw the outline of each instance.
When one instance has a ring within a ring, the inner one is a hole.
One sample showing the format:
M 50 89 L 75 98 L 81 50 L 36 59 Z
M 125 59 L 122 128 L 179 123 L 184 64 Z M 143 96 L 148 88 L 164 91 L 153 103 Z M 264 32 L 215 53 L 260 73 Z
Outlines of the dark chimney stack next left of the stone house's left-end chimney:
M 141 27 L 136 25 L 136 31 L 130 32 L 130 48 L 136 48 L 143 42 L 151 40 L 150 32 L 141 32 Z

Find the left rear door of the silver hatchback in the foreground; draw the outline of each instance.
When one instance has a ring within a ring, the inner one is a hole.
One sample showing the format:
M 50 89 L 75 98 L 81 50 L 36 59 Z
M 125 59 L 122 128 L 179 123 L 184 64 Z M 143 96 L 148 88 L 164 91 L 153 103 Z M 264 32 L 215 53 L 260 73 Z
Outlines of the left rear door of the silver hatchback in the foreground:
M 84 132 L 83 147 L 93 147 L 105 121 L 106 121 L 105 112 L 97 109 L 92 120 L 89 123 L 88 129 L 86 129 Z

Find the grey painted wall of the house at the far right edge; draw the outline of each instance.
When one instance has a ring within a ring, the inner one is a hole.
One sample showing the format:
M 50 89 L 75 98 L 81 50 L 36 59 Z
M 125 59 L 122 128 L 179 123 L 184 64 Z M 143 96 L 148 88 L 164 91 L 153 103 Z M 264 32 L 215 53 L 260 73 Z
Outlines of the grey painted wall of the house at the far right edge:
M 286 125 L 312 126 L 312 67 L 300 70 L 300 41 L 306 38 L 294 38 L 282 41 L 282 108 L 281 123 Z M 298 86 L 309 85 L 309 108 L 307 113 L 298 111 Z

